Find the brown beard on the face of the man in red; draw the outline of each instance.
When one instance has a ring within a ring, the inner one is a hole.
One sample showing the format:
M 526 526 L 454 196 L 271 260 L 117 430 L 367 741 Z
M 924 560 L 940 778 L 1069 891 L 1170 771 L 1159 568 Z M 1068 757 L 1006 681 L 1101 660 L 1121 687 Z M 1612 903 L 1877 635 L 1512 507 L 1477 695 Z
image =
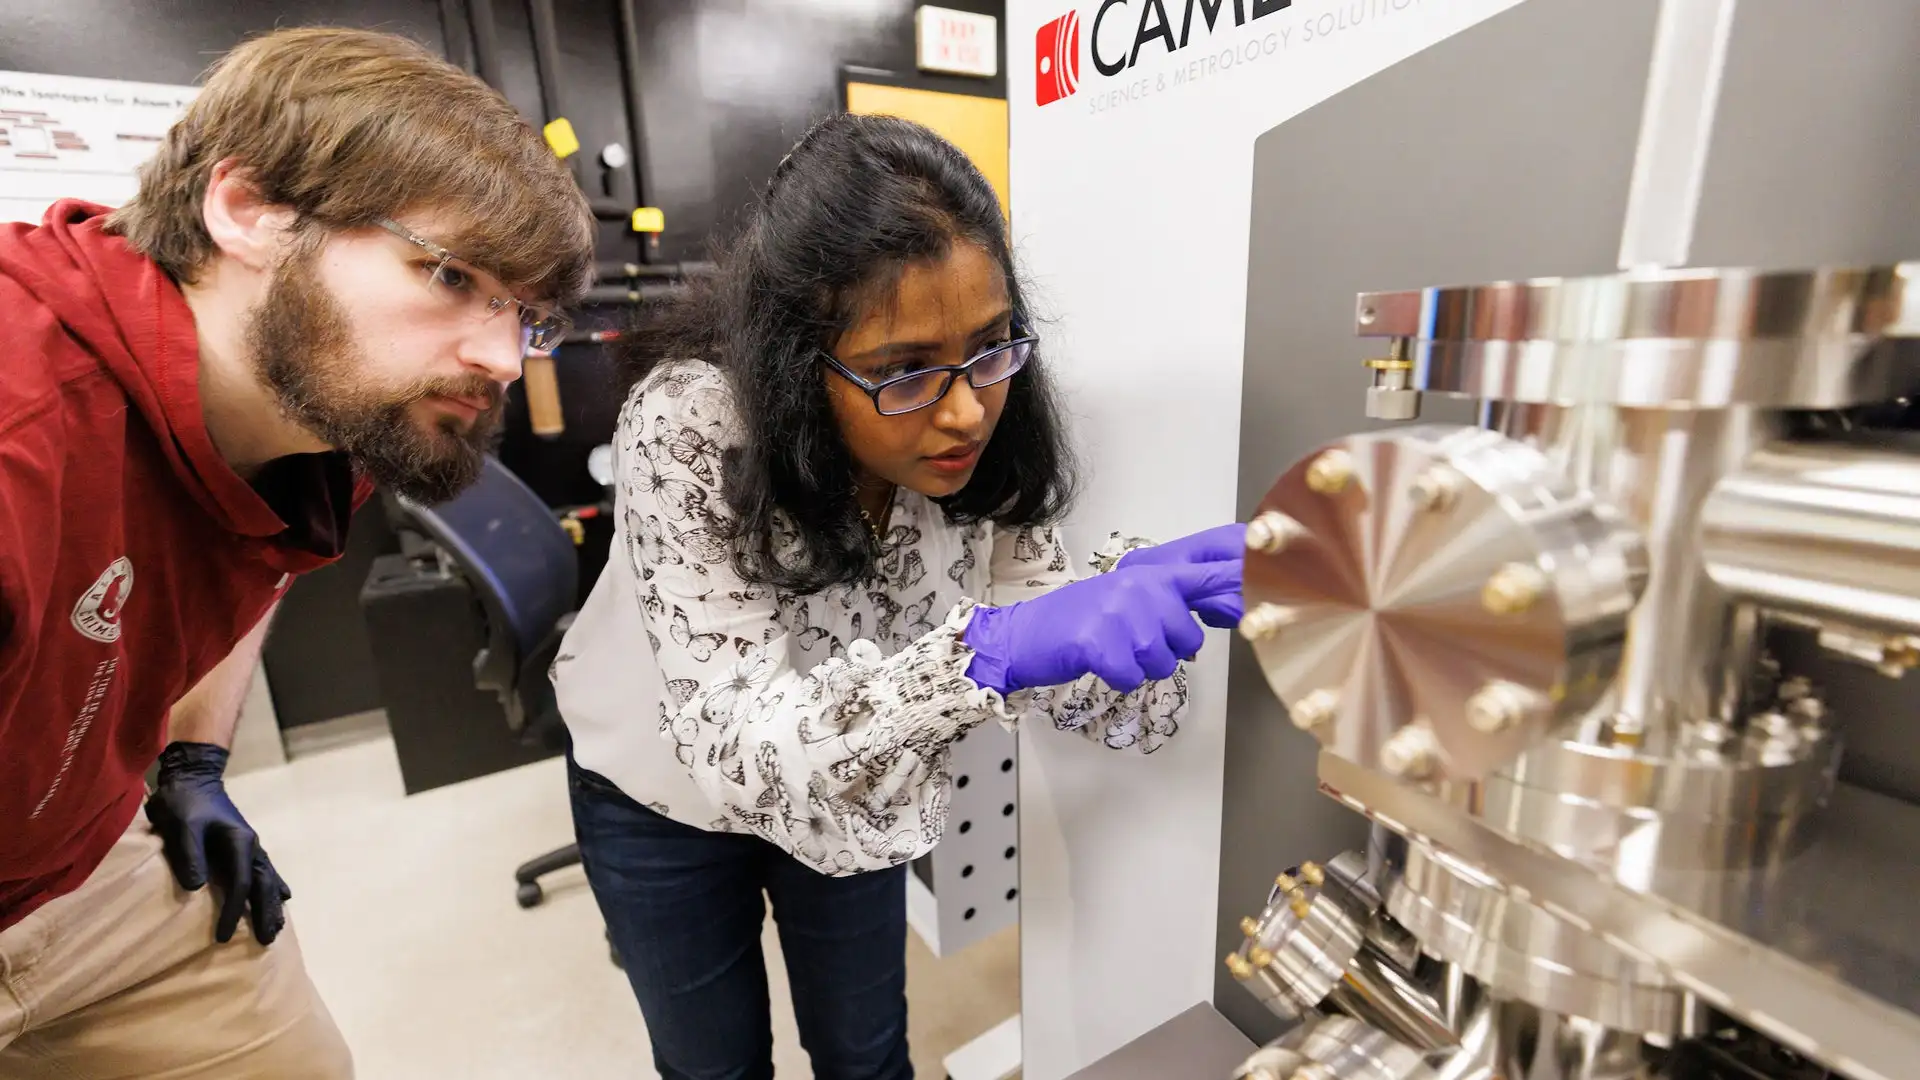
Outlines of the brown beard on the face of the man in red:
M 346 452 L 380 486 L 426 505 L 451 500 L 480 477 L 495 442 L 499 384 L 484 375 L 422 379 L 403 390 L 369 384 L 372 365 L 353 340 L 346 307 L 321 284 L 313 256 L 300 252 L 275 267 L 267 296 L 248 317 L 248 350 L 261 379 L 294 423 Z M 492 407 L 467 430 L 455 417 L 422 427 L 411 407 L 436 394 Z

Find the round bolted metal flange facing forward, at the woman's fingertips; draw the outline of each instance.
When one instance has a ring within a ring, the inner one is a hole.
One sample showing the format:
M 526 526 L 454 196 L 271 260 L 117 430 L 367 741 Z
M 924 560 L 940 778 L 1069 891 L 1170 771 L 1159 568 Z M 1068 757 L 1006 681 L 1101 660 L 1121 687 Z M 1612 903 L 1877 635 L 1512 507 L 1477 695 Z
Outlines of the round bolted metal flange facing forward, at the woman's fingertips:
M 1246 557 L 1273 692 L 1323 746 L 1405 780 L 1480 778 L 1586 711 L 1645 552 L 1540 452 L 1469 427 L 1352 434 L 1261 503 Z

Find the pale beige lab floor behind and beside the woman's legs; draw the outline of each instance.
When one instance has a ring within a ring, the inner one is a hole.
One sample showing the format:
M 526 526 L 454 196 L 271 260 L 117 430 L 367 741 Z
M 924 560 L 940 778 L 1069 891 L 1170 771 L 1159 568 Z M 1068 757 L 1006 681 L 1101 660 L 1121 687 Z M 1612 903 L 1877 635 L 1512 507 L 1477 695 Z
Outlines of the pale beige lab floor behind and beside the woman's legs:
M 361 1080 L 653 1078 L 578 869 L 522 911 L 513 869 L 572 836 L 559 761 L 403 798 L 386 738 L 230 780 L 294 888 L 307 967 Z M 776 1070 L 808 1076 L 768 920 Z M 1018 1009 L 1018 930 L 956 957 L 908 945 L 914 1067 Z

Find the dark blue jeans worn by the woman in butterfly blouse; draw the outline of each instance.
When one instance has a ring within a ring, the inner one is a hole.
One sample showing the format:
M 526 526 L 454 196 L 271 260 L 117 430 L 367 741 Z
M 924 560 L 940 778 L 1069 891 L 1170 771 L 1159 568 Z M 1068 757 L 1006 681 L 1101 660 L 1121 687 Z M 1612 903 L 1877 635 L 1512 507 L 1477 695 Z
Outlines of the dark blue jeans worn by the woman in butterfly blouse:
M 906 867 L 829 878 L 758 836 L 707 832 L 568 761 L 574 836 L 662 1080 L 770 1080 L 760 953 L 772 897 L 816 1080 L 912 1080 Z

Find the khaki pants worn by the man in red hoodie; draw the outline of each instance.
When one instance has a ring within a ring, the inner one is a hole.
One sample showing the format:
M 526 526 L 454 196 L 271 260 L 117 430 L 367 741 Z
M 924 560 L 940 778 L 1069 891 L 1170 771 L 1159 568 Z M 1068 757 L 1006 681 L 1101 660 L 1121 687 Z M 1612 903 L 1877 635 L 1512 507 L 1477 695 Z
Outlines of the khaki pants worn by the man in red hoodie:
M 0 932 L 0 1080 L 351 1078 L 292 922 L 219 945 L 215 911 L 136 815 L 86 884 Z

